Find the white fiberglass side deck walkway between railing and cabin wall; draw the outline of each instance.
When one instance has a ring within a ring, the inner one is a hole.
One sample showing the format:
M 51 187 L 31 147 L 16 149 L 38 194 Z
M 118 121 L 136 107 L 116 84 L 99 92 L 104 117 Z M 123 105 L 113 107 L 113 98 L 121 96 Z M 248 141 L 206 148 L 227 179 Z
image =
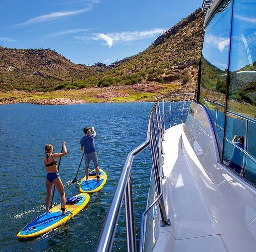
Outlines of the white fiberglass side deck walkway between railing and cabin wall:
M 182 132 L 182 125 L 168 129 L 163 142 L 163 169 L 167 177 L 164 188 L 171 232 L 175 239 L 214 235 L 217 234 L 214 221 L 181 148 Z M 208 187 L 214 188 L 211 184 Z

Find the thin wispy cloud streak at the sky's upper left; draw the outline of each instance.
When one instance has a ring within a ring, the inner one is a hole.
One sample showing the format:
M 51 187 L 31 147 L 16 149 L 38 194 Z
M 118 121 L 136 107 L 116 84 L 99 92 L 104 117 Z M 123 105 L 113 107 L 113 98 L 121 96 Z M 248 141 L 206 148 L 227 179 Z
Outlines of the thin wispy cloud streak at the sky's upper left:
M 47 21 L 51 21 L 53 19 L 57 19 L 57 18 L 65 17 L 65 16 L 77 15 L 77 14 L 84 13 L 84 12 L 87 12 L 87 11 L 91 10 L 91 7 L 92 6 L 89 6 L 88 8 L 81 9 L 81 10 L 75 10 L 75 11 L 53 12 L 51 14 L 31 18 L 28 21 L 25 21 L 23 23 L 15 24 L 14 26 L 16 26 L 16 27 L 18 27 L 18 26 L 28 26 L 30 24 L 47 22 Z

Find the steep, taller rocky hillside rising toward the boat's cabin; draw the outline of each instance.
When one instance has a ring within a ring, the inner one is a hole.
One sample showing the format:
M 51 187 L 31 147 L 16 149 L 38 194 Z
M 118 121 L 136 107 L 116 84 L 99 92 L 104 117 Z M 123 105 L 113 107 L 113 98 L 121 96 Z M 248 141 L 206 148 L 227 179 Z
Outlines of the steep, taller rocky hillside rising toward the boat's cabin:
M 175 84 L 194 92 L 203 42 L 204 14 L 198 9 L 159 36 L 145 51 L 111 64 L 98 75 L 98 86 Z M 158 85 L 159 86 L 159 85 Z

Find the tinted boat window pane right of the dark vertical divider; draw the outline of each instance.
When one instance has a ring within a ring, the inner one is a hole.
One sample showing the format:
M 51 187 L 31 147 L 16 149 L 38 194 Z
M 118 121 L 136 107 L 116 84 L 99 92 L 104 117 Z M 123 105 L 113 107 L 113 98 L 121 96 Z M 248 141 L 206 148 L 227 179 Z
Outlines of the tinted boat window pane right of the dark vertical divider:
M 246 179 L 256 184 L 256 124 L 254 120 L 246 119 L 256 118 L 255 1 L 234 0 L 229 71 L 224 159 L 229 166 L 241 171 L 241 175 L 245 172 Z M 233 138 L 235 135 L 237 138 Z M 239 136 L 242 136 L 240 140 Z M 249 155 L 244 155 L 242 149 Z

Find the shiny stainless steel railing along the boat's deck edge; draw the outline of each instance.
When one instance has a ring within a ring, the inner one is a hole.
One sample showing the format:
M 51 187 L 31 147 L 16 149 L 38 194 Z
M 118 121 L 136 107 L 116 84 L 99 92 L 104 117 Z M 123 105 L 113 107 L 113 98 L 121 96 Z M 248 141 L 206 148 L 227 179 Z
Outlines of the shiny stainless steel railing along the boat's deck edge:
M 115 237 L 116 226 L 118 223 L 120 210 L 122 207 L 123 200 L 125 200 L 125 218 L 126 218 L 126 236 L 127 236 L 127 251 L 136 251 L 136 234 L 135 234 L 135 223 L 134 223 L 134 212 L 133 212 L 133 198 L 132 198 L 132 179 L 131 179 L 131 166 L 132 161 L 135 156 L 145 150 L 150 146 L 151 159 L 152 159 L 152 171 L 154 173 L 157 195 L 158 197 L 155 201 L 147 207 L 142 215 L 141 223 L 141 240 L 140 240 L 140 251 L 144 249 L 145 240 L 145 217 L 148 211 L 153 207 L 154 204 L 158 203 L 161 215 L 162 225 L 170 225 L 170 221 L 166 215 L 165 204 L 163 202 L 162 195 L 162 179 L 165 178 L 162 171 L 162 140 L 165 133 L 165 115 L 169 115 L 169 127 L 171 127 L 171 107 L 173 97 L 184 96 L 183 106 L 181 109 L 181 123 L 183 122 L 183 114 L 185 109 L 185 102 L 188 96 L 194 96 L 193 93 L 190 94 L 176 94 L 170 95 L 158 99 L 151 112 L 150 118 L 147 125 L 146 140 L 139 145 L 137 148 L 132 150 L 126 158 L 124 167 L 120 174 L 114 196 L 109 208 L 108 215 L 106 217 L 101 236 L 98 242 L 96 251 L 105 252 L 111 251 L 113 246 L 113 240 Z M 165 114 L 165 102 L 169 100 L 170 111 Z M 160 104 L 162 106 L 162 113 L 160 110 Z

